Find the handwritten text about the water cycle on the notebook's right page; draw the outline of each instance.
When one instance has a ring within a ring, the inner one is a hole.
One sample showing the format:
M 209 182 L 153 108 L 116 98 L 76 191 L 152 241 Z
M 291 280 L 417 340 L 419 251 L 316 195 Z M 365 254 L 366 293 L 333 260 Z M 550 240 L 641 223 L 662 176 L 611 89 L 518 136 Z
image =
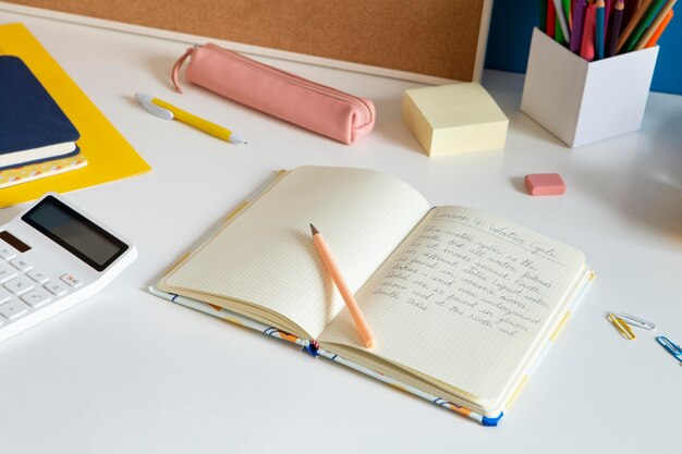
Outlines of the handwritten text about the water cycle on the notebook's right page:
M 378 281 L 373 295 L 517 338 L 547 311 L 560 254 L 490 219 L 437 212 Z

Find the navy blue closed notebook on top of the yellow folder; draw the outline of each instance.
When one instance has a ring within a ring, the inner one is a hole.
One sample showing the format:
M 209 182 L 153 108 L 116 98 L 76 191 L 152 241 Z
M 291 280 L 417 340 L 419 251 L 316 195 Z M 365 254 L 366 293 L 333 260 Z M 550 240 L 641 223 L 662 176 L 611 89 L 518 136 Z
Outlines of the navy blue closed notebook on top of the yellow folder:
M 0 168 L 73 155 L 80 137 L 28 66 L 0 56 Z

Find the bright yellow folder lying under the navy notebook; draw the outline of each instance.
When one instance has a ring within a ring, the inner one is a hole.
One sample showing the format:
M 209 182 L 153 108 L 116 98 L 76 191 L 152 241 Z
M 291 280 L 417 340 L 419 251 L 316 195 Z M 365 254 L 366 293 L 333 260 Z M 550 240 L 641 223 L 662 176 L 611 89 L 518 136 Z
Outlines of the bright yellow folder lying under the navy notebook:
M 73 172 L 0 189 L 0 207 L 151 170 L 23 24 L 0 25 L 0 54 L 20 57 L 26 63 L 81 133 L 77 144 L 88 161 Z

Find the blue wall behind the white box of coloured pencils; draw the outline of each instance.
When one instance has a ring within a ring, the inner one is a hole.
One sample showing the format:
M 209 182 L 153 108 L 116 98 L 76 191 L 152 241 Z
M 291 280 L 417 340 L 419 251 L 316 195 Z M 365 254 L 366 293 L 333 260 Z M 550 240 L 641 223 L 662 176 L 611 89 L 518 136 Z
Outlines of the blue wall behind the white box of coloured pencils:
M 682 95 L 682 5 L 658 41 L 651 89 Z M 524 73 L 533 27 L 539 23 L 538 0 L 496 0 L 490 20 L 486 68 Z

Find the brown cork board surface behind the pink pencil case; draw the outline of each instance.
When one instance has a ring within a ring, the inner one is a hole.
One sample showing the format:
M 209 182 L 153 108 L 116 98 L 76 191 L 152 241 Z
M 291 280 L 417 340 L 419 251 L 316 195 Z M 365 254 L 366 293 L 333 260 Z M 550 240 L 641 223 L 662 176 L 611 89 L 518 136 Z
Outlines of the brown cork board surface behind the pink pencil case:
M 12 0 L 27 7 L 472 81 L 491 0 Z

